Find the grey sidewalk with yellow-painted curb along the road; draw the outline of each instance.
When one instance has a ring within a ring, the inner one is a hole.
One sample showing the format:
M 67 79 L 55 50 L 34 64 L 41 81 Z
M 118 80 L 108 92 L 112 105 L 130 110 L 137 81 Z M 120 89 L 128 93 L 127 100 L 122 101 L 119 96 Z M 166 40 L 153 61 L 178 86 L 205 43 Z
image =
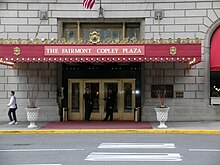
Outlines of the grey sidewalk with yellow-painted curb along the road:
M 220 134 L 220 121 L 200 122 L 166 122 L 167 129 L 158 129 L 159 122 L 150 122 L 152 129 L 41 129 L 49 122 L 36 122 L 36 129 L 29 129 L 29 122 L 19 122 L 17 125 L 8 125 L 0 122 L 0 134 L 65 134 L 65 133 L 172 133 L 172 134 Z M 62 123 L 62 122 L 60 122 Z M 100 122 L 102 124 L 102 122 Z M 109 122 L 110 124 L 110 122 Z

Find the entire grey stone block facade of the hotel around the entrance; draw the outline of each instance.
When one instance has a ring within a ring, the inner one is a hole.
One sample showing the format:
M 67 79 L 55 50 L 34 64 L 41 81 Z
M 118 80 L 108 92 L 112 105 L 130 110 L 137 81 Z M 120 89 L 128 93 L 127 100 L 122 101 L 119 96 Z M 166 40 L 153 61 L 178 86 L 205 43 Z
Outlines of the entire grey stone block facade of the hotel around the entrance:
M 220 108 L 209 103 L 209 47 L 214 30 L 220 25 L 218 0 L 103 0 L 104 17 L 139 19 L 141 36 L 145 38 L 201 38 L 202 62 L 192 67 L 183 63 L 145 63 L 142 67 L 142 120 L 155 120 L 153 108 L 157 99 L 150 97 L 152 84 L 173 84 L 174 99 L 167 99 L 171 107 L 169 120 L 219 120 Z M 72 19 L 99 21 L 99 4 L 85 10 L 82 0 L 2 0 L 0 2 L 0 38 L 33 39 L 61 38 L 62 22 Z M 155 19 L 155 10 L 163 10 L 163 18 Z M 40 20 L 40 10 L 48 11 L 48 20 Z M 37 31 L 39 30 L 39 33 Z M 26 75 L 28 71 L 33 74 Z M 40 120 L 59 120 L 56 102 L 57 64 L 0 65 L 0 121 L 8 120 L 9 91 L 15 90 L 20 104 L 18 118 L 25 119 L 23 110 L 27 103 L 27 84 L 40 77 L 38 105 L 44 115 Z M 183 92 L 184 98 L 175 98 L 175 92 Z

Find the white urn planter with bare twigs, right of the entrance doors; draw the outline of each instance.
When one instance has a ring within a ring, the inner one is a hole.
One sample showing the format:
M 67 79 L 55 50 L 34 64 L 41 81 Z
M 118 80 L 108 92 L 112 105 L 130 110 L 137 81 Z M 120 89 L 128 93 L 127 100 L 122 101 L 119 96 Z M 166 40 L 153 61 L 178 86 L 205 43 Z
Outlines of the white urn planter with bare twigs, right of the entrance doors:
M 165 122 L 168 119 L 168 112 L 170 108 L 165 105 L 165 96 L 166 96 L 165 86 L 160 86 L 160 89 L 156 91 L 156 95 L 160 101 L 160 105 L 154 108 L 154 110 L 156 111 L 157 121 L 160 122 L 158 128 L 167 128 Z

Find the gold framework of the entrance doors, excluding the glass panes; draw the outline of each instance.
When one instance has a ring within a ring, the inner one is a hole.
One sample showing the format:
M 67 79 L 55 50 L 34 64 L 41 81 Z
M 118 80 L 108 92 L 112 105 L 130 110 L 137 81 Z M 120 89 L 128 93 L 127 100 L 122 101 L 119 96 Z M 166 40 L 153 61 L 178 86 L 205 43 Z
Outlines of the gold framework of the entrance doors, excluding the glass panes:
M 72 84 L 79 83 L 79 112 L 72 112 Z M 104 98 L 104 85 L 105 83 L 117 83 L 118 84 L 118 112 L 114 112 L 114 120 L 134 120 L 134 108 L 135 108 L 135 79 L 69 79 L 68 80 L 68 119 L 69 120 L 84 120 L 84 88 L 86 83 L 99 83 L 99 113 L 92 113 L 91 120 L 103 120 L 105 117 L 105 101 Z M 124 84 L 131 83 L 132 85 L 132 110 L 131 112 L 124 111 Z

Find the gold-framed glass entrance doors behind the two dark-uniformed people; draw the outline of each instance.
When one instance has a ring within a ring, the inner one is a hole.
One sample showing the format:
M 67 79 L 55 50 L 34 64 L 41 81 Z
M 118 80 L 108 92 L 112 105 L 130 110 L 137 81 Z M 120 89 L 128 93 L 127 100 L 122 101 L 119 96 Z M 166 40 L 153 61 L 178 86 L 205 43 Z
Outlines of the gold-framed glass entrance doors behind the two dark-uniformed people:
M 69 79 L 68 80 L 68 120 L 84 120 L 84 89 L 91 88 L 93 112 L 91 120 L 105 118 L 104 98 L 112 89 L 115 96 L 114 120 L 134 120 L 135 79 Z

